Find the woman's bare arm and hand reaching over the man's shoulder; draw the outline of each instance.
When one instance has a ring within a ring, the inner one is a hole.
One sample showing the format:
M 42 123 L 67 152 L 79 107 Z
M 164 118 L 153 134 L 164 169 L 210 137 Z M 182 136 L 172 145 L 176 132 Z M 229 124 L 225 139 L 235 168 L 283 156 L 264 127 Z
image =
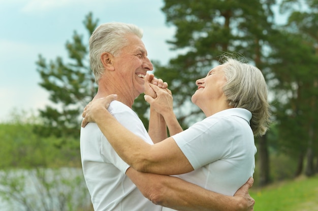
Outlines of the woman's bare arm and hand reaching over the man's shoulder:
M 105 108 L 115 98 L 110 95 L 90 102 L 84 109 L 82 126 L 96 122 L 118 155 L 137 171 L 177 175 L 194 170 L 172 137 L 150 145 L 125 129 Z

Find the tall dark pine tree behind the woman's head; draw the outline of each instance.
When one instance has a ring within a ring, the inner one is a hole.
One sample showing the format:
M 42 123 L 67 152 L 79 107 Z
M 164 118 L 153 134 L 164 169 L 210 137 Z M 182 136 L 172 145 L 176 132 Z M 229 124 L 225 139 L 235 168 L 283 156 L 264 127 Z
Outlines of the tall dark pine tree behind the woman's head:
M 162 8 L 168 24 L 176 27 L 168 43 L 180 53 L 169 64 L 156 66 L 155 74 L 169 83 L 174 94 L 178 120 L 187 128 L 203 118 L 203 113 L 190 103 L 197 89 L 195 81 L 203 77 L 219 61 L 224 52 L 236 52 L 238 57 L 266 69 L 266 47 L 272 30 L 274 1 L 177 1 L 166 0 Z M 265 75 L 269 72 L 264 71 Z M 268 165 L 266 137 L 259 139 L 260 159 Z M 263 166 L 264 183 L 268 183 L 269 167 Z

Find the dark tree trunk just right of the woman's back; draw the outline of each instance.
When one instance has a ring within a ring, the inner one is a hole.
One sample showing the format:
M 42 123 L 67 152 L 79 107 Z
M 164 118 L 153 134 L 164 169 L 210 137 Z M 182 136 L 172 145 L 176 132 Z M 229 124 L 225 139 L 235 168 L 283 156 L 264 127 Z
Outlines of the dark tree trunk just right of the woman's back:
M 267 135 L 259 138 L 260 182 L 259 186 L 269 184 L 269 153 L 267 148 Z

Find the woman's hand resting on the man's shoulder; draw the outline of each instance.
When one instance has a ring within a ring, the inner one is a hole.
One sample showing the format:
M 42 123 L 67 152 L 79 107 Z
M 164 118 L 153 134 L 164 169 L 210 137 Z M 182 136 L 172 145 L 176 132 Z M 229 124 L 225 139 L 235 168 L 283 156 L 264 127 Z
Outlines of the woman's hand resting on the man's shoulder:
M 101 111 L 106 110 L 109 107 L 109 104 L 117 99 L 117 95 L 109 95 L 106 98 L 99 98 L 96 100 L 90 101 L 84 108 L 82 117 L 82 128 L 85 128 L 85 125 L 88 122 L 94 122 L 96 117 L 100 116 Z

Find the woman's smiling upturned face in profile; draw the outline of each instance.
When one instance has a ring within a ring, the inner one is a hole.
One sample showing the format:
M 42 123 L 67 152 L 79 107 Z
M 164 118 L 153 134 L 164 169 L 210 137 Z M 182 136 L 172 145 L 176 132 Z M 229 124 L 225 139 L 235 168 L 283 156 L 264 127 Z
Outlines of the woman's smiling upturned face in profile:
M 198 90 L 192 96 L 192 102 L 201 108 L 206 115 L 210 109 L 221 109 L 221 106 L 227 105 L 227 99 L 223 92 L 226 83 L 223 68 L 224 65 L 218 65 L 211 69 L 206 77 L 196 81 Z

